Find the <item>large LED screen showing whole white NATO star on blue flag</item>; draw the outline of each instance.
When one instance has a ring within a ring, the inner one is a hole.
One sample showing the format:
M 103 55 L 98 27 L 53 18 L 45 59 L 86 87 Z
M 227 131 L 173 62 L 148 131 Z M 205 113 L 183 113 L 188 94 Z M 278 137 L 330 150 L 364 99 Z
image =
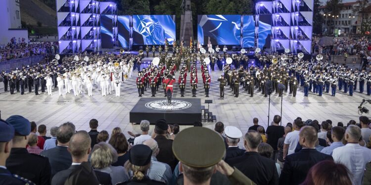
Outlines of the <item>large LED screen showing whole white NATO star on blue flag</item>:
M 134 45 L 173 44 L 175 37 L 175 15 L 133 15 Z

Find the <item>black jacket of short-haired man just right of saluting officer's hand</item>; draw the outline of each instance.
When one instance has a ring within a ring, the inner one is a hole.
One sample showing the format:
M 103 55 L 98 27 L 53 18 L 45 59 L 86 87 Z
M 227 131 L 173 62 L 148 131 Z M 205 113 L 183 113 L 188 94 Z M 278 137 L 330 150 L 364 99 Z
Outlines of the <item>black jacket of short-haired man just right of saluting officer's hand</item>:
M 226 162 L 257 185 L 278 185 L 276 163 L 258 152 L 248 151 L 241 156 L 227 159 Z

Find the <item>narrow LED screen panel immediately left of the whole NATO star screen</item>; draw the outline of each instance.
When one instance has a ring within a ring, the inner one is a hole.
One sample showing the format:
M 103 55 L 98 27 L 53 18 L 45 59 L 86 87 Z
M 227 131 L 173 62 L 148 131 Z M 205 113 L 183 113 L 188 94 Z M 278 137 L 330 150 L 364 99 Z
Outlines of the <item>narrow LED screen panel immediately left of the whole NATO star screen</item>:
M 117 16 L 118 40 L 121 47 L 130 46 L 130 17 L 129 15 Z

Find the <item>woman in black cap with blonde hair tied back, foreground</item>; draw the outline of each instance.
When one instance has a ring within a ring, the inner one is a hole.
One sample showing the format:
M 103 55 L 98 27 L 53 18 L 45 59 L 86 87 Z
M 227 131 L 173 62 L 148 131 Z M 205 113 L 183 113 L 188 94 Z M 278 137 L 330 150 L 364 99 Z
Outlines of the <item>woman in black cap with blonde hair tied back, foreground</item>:
M 149 179 L 146 176 L 151 166 L 152 150 L 148 146 L 139 144 L 133 146 L 129 151 L 129 169 L 133 176 L 128 181 L 120 182 L 116 185 L 165 185 L 163 182 Z

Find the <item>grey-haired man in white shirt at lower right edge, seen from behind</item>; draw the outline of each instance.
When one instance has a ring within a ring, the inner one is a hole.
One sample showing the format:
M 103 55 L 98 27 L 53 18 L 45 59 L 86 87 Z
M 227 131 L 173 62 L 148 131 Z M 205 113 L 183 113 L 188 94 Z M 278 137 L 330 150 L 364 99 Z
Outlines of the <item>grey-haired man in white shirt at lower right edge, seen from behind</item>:
M 353 174 L 353 185 L 361 185 L 366 163 L 371 161 L 371 150 L 358 144 L 361 137 L 360 127 L 349 125 L 344 136 L 348 143 L 332 152 L 334 161 L 344 164 Z

